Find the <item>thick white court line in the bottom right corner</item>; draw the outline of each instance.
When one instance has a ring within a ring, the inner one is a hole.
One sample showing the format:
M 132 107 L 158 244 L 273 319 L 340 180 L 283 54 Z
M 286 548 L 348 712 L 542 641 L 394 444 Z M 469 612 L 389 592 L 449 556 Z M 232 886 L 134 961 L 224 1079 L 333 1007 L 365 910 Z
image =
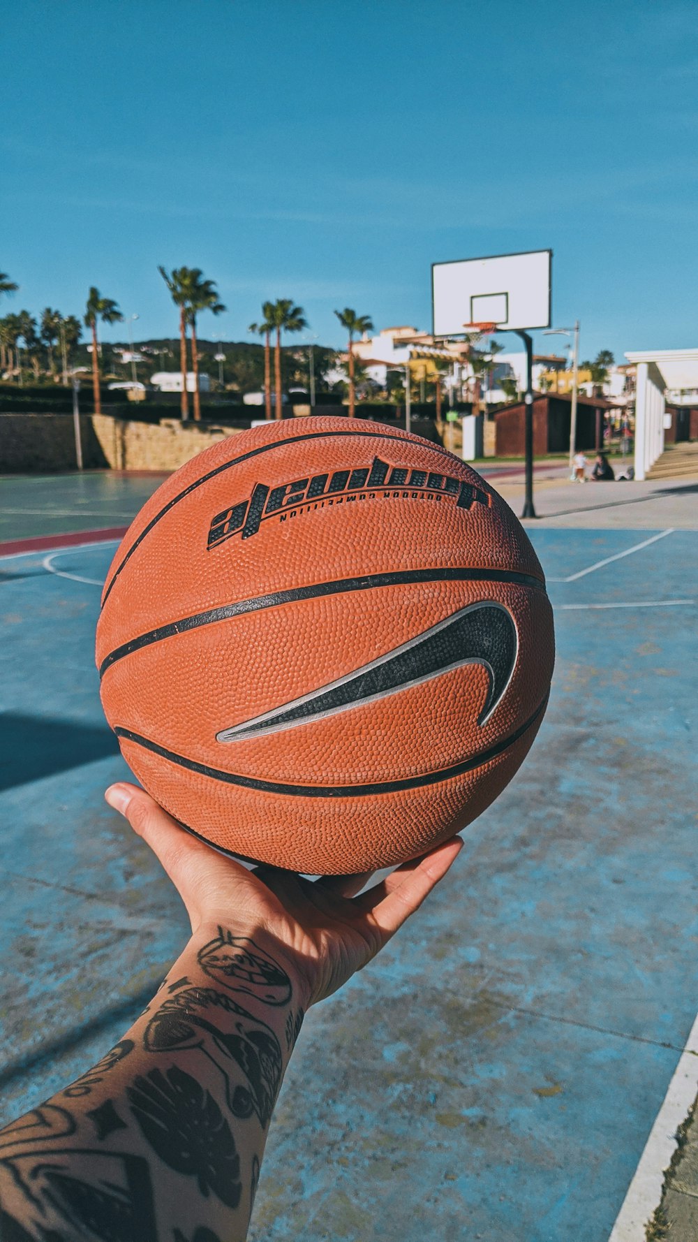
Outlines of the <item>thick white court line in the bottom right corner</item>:
M 663 1104 L 640 1156 L 609 1242 L 645 1242 L 645 1226 L 662 1199 L 664 1169 L 676 1151 L 676 1131 L 698 1092 L 698 1017 L 674 1069 Z

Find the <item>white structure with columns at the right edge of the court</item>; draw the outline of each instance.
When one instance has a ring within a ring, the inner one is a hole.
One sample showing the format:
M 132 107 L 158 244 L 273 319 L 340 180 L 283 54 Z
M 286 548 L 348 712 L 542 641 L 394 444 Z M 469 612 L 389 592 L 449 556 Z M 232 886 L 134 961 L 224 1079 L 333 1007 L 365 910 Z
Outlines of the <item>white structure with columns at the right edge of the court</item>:
M 637 366 L 635 477 L 646 478 L 664 451 L 666 391 L 698 388 L 698 349 L 656 349 L 625 355 Z

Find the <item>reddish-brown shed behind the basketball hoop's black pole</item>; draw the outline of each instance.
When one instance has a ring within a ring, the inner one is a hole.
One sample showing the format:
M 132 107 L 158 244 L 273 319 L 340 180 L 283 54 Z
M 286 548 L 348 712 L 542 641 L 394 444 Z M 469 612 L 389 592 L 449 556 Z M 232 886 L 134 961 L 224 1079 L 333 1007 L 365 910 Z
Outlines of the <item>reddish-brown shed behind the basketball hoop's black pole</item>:
M 604 447 L 604 414 L 609 402 L 604 397 L 579 396 L 576 410 L 576 448 Z M 570 446 L 571 397 L 555 392 L 534 394 L 533 452 L 564 453 Z M 505 405 L 494 412 L 496 456 L 523 457 L 525 406 L 523 401 Z

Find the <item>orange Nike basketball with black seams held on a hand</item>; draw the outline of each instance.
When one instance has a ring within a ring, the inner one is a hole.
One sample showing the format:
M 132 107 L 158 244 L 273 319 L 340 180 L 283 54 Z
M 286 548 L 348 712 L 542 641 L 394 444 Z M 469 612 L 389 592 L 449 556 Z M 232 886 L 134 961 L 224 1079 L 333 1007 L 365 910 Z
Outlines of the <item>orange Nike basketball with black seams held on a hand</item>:
M 114 556 L 97 664 L 122 753 L 224 851 L 308 873 L 424 853 L 543 719 L 543 571 L 508 505 L 383 424 L 279 421 L 171 476 Z

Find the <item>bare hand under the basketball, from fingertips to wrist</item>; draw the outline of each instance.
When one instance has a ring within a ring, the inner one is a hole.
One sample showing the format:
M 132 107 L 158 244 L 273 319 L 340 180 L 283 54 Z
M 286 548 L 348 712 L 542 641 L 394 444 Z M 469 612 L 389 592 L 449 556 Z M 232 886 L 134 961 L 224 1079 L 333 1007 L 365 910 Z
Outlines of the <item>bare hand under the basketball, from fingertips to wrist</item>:
M 361 970 L 422 904 L 461 851 L 460 837 L 404 863 L 359 897 L 368 874 L 312 881 L 272 867 L 247 871 L 196 841 L 135 785 L 107 790 L 107 801 L 159 858 L 191 920 L 265 928 L 306 985 L 307 1005 L 325 1000 Z M 306 1006 L 307 1007 L 307 1006 Z

